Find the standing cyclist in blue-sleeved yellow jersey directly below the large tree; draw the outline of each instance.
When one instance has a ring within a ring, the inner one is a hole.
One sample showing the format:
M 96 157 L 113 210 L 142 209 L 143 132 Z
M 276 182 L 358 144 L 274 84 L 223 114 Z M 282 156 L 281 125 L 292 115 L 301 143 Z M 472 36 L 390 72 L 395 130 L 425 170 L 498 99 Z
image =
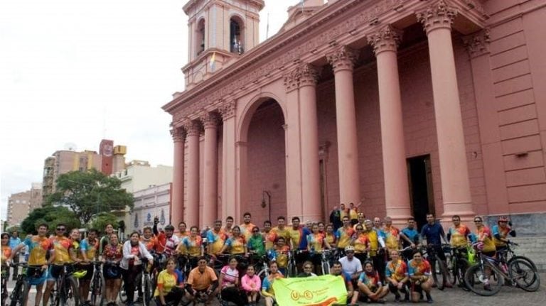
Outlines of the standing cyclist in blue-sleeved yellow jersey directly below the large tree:
M 87 231 L 87 238 L 80 242 L 80 268 L 87 271 L 85 275 L 80 278 L 80 299 L 81 303 L 85 304 L 89 302 L 87 297 L 89 296 L 89 288 L 91 284 L 91 278 L 95 272 L 93 265 L 90 261 L 97 260 L 97 251 L 99 250 L 99 240 L 97 239 L 98 231 L 96 229 L 90 229 Z

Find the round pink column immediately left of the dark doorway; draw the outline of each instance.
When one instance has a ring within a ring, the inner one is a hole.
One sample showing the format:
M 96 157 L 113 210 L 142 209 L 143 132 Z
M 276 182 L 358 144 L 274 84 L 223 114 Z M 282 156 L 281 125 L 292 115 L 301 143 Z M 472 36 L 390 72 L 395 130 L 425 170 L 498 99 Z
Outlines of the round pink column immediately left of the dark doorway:
M 411 212 L 397 62 L 400 34 L 385 26 L 368 35 L 368 43 L 378 60 L 385 209 L 393 222 L 405 224 Z

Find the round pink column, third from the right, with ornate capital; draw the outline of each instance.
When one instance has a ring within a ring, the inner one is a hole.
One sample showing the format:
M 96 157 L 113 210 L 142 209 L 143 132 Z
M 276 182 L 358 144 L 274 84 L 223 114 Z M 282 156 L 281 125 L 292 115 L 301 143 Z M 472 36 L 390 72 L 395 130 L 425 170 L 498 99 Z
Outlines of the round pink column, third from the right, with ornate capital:
M 358 141 L 356 136 L 353 65 L 358 52 L 346 46 L 327 55 L 333 67 L 336 87 L 336 127 L 338 136 L 338 168 L 340 202 L 357 204 L 360 199 L 358 174 Z

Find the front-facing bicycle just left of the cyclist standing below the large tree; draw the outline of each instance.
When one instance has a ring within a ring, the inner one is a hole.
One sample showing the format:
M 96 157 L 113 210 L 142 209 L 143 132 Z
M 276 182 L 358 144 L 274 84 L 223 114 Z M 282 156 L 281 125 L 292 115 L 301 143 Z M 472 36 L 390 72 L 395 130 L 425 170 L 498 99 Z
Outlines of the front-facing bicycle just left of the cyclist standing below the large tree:
M 54 265 L 59 266 L 59 265 Z M 73 266 L 73 263 L 65 263 L 62 267 L 59 277 L 56 280 L 55 288 L 50 295 L 51 305 L 55 306 L 78 306 L 80 305 L 80 294 L 78 291 L 77 280 L 73 276 L 72 269 L 68 270 L 68 266 Z M 85 275 L 85 273 L 82 273 Z M 78 275 L 79 276 L 79 275 Z

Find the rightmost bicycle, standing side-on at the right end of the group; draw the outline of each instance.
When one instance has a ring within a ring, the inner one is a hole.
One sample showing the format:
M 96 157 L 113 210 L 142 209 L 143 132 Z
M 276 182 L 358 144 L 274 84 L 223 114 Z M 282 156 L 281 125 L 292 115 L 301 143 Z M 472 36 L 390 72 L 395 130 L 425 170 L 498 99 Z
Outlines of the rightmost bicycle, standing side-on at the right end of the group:
M 464 275 L 466 287 L 473 293 L 495 295 L 501 290 L 504 280 L 529 292 L 540 288 L 540 276 L 527 261 L 516 258 L 507 265 L 496 258 L 484 255 L 477 246 L 478 244 L 473 244 L 476 248 L 477 263 L 469 267 Z

